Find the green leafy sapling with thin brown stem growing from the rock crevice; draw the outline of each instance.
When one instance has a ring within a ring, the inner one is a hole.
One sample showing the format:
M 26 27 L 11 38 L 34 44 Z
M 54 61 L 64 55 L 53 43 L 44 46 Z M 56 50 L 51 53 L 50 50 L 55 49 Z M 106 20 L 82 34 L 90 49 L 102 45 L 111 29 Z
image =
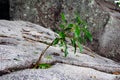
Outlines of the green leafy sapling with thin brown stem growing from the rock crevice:
M 42 56 L 45 54 L 45 51 L 52 45 L 60 44 L 63 47 L 64 56 L 68 55 L 68 43 L 67 39 L 70 39 L 71 45 L 74 47 L 74 53 L 76 53 L 77 47 L 80 52 L 82 52 L 82 44 L 86 40 L 92 41 L 92 35 L 87 28 L 87 24 L 83 21 L 79 15 L 76 15 L 73 23 L 68 23 L 65 15 L 61 14 L 62 23 L 60 24 L 60 31 L 58 36 L 48 45 L 45 50 L 42 51 L 38 61 L 35 64 L 35 68 L 38 67 L 39 62 L 41 61 Z

